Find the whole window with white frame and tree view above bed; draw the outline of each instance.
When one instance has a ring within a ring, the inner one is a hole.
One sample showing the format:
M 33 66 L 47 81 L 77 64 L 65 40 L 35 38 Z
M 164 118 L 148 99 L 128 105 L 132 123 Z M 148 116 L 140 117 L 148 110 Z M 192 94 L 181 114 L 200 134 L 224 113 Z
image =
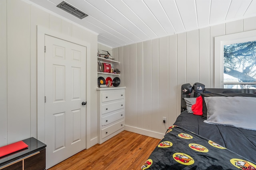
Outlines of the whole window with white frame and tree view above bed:
M 256 88 L 256 30 L 214 38 L 214 88 Z

